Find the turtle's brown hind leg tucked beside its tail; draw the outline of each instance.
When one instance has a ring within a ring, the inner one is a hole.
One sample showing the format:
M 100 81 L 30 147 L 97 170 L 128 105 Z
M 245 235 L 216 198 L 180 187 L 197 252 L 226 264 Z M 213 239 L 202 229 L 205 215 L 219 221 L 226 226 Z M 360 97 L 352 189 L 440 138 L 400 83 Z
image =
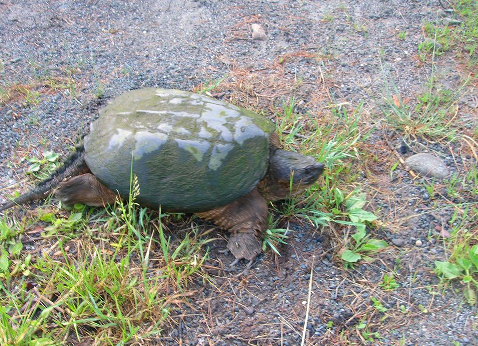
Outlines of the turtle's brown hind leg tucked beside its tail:
M 66 205 L 82 203 L 91 207 L 104 207 L 115 203 L 116 196 L 90 173 L 63 181 L 55 189 L 55 197 Z

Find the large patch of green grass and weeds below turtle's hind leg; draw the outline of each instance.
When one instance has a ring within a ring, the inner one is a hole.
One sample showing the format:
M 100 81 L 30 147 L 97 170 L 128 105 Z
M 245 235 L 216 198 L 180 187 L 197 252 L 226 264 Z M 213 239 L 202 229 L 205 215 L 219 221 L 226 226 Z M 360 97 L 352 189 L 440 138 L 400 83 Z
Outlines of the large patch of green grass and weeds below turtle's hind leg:
M 40 214 L 40 256 L 22 246 L 32 224 L 1 220 L 1 345 L 159 342 L 172 304 L 191 294 L 188 282 L 207 279 L 207 251 L 196 229 L 172 241 L 162 228 L 169 216 L 148 214 L 138 194 L 132 179 L 129 200 L 106 212 L 75 206 L 66 216 Z

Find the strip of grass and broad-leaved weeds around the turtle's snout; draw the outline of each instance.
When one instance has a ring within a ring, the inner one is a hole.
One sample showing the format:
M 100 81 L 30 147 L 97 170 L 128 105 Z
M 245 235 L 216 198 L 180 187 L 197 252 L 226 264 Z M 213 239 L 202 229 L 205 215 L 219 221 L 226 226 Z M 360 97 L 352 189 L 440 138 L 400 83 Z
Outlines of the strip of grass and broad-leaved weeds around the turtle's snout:
M 343 107 L 333 108 L 332 119 L 325 123 L 319 123 L 311 115 L 295 113 L 294 100 L 284 103 L 282 109 L 283 113 L 276 121 L 281 142 L 292 150 L 299 147 L 304 154 L 315 156 L 319 162 L 327 164 L 327 169 L 320 183 L 312 186 L 305 193 L 305 198 L 301 197 L 300 203 L 292 198 L 283 205 L 280 214 L 309 220 L 316 227 L 336 223 L 341 227 L 354 228 L 356 233 L 345 239 L 341 251 L 344 265 L 354 267 L 360 259 L 371 260 L 372 254 L 388 246 L 385 241 L 374 239 L 366 233 L 366 227 L 377 217 L 363 209 L 366 204 L 365 193 L 354 190 L 344 196 L 337 186 L 337 182 L 344 182 L 344 177 L 355 180 L 350 171 L 350 162 L 359 157 L 358 146 L 368 136 L 368 132 L 360 132 L 358 127 L 361 105 L 352 113 Z M 284 230 L 273 231 L 270 227 L 269 231 L 272 234 L 266 235 L 264 247 L 270 246 L 270 243 L 285 242 Z

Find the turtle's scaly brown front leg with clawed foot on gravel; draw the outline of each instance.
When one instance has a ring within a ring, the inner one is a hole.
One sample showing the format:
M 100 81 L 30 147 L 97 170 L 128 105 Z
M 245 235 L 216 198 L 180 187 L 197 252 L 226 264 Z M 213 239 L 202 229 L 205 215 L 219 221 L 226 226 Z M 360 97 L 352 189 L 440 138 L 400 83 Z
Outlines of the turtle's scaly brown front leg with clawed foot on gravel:
M 252 264 L 261 251 L 262 235 L 267 227 L 267 202 L 257 190 L 224 207 L 197 215 L 230 232 L 228 249 L 236 257 L 231 265 L 242 258 L 249 261 L 249 266 Z

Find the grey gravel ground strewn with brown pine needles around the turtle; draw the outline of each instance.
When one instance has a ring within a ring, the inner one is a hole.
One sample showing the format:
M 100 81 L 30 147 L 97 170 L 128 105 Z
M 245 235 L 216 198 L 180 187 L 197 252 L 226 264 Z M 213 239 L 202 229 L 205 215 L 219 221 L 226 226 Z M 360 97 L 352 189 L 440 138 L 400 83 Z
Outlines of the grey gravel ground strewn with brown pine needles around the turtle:
M 235 73 L 247 71 L 261 84 L 249 82 L 250 99 L 239 101 L 256 107 L 295 97 L 303 110 L 321 110 L 328 106 L 327 86 L 337 103 L 365 102 L 371 114 L 387 79 L 402 97 L 414 98 L 430 76 L 429 64 L 417 59 L 422 24 L 433 20 L 438 8 L 438 1 L 426 0 L 0 1 L 0 86 L 33 86 L 30 104 L 13 100 L 0 109 L 0 202 L 4 192 L 27 188 L 27 164 L 21 161 L 26 153 L 40 155 L 45 148 L 66 153 L 96 111 L 129 89 L 191 90 L 226 74 L 239 79 Z M 266 41 L 250 38 L 251 23 L 265 28 Z M 404 30 L 406 38 L 397 39 Z M 278 63 L 281 59 L 285 62 Z M 380 62 L 387 66 L 385 72 Z M 437 68 L 445 85 L 462 80 L 452 59 L 444 57 Z M 293 85 L 298 78 L 301 83 L 286 95 L 273 87 Z M 56 87 L 38 80 L 54 80 Z M 247 84 L 247 78 L 241 82 Z M 260 96 L 256 104 L 254 93 Z M 476 107 L 476 92 L 464 93 L 460 104 Z M 397 210 L 406 218 L 436 203 L 405 172 L 390 181 L 396 159 L 380 148 L 399 144 L 398 136 L 383 131 L 367 142 L 379 160 L 362 182 L 370 188 L 372 208 L 381 207 L 384 222 L 396 220 L 392 214 Z M 438 152 L 452 173 L 471 160 L 452 155 L 453 146 L 423 144 Z M 199 293 L 192 299 L 196 310 L 178 312 L 183 316 L 179 324 L 156 342 L 299 345 L 312 273 L 307 345 L 360 343 L 358 333 L 349 333 L 349 342 L 340 341 L 339 334 L 354 331 L 365 312 L 373 315 L 371 297 L 389 309 L 409 309 L 403 316 L 366 321 L 383 338 L 377 343 L 477 345 L 477 311 L 463 303 L 461 291 L 432 294 L 427 289 L 439 282 L 433 261 L 445 258 L 443 246 L 428 235 L 450 217 L 446 211 L 433 212 L 380 231 L 379 237 L 394 246 L 377 261 L 348 271 L 334 260 L 326 235 L 292 223 L 295 232 L 281 257 L 268 253 L 250 270 L 212 274 L 214 287 L 198 283 Z M 212 263 L 231 260 L 216 251 L 224 242 L 212 247 Z M 398 262 L 398 292 L 377 290 L 382 274 Z M 333 328 L 327 328 L 329 321 Z

